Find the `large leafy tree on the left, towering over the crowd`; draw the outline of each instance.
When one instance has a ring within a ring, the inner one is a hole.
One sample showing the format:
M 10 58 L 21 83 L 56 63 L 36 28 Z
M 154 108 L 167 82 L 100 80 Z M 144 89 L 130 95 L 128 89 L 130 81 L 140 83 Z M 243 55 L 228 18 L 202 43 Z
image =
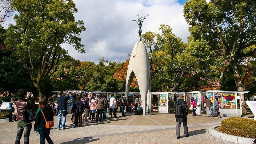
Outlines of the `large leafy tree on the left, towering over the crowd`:
M 83 21 L 76 21 L 78 10 L 72 0 L 10 0 L 11 8 L 18 11 L 16 25 L 7 30 L 6 45 L 23 59 L 32 82 L 43 97 L 47 80 L 57 70 L 59 60 L 67 51 L 62 44 L 68 43 L 84 53 L 81 38 L 86 30 Z

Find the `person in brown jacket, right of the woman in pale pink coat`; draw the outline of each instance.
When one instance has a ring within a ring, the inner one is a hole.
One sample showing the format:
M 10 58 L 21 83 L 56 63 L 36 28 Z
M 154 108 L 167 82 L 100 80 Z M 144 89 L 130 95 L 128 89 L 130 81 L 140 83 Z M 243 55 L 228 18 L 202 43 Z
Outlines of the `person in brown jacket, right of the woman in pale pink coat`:
M 99 98 L 97 98 L 96 100 L 96 104 L 97 104 L 96 122 L 101 123 L 103 111 L 105 108 L 107 108 L 106 99 L 102 96 L 101 93 L 99 94 Z

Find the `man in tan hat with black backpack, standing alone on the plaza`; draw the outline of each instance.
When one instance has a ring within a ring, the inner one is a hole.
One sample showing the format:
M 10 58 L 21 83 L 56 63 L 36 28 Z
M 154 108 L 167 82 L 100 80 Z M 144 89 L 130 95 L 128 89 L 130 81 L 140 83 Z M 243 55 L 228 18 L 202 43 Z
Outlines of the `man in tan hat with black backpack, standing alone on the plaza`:
M 180 138 L 180 126 L 183 123 L 184 135 L 188 137 L 188 126 L 187 126 L 187 115 L 188 115 L 188 104 L 183 101 L 184 95 L 180 94 L 178 102 L 175 103 L 175 117 L 176 117 L 176 136 Z

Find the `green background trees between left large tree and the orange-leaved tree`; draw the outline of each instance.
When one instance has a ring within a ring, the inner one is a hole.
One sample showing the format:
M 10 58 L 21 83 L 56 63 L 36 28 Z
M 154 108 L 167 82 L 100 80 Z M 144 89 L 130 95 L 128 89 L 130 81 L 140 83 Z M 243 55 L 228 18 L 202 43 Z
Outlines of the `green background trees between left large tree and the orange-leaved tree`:
M 51 83 L 54 90 L 119 91 L 113 77 L 117 65 L 106 58 L 100 58 L 99 64 L 95 64 L 68 57 L 66 61 L 60 62 L 58 71 L 51 77 Z

